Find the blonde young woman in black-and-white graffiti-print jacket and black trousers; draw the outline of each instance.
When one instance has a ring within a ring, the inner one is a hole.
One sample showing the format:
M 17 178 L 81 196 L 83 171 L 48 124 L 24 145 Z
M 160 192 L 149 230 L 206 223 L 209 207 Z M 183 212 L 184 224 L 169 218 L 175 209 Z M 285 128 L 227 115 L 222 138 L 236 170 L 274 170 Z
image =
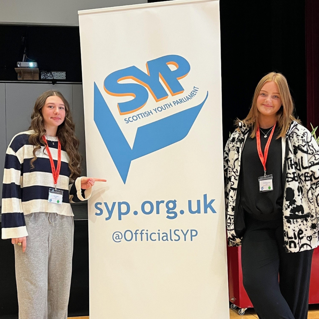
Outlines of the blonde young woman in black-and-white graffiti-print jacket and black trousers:
M 258 83 L 224 154 L 227 237 L 261 319 L 306 319 L 319 245 L 319 147 L 293 115 L 286 78 Z M 278 282 L 279 275 L 279 282 Z

